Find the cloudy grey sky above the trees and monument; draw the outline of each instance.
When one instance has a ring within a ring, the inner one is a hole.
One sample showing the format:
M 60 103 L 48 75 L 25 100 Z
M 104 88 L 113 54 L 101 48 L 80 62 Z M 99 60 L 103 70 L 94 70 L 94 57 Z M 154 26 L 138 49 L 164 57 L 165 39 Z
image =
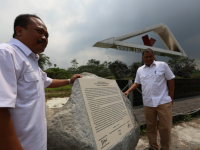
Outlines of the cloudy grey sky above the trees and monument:
M 45 54 L 60 68 L 89 59 L 121 60 L 128 65 L 141 61 L 141 54 L 92 47 L 97 41 L 133 32 L 159 23 L 166 24 L 189 58 L 200 68 L 200 0 L 0 0 L 0 43 L 13 34 L 17 15 L 38 15 L 46 24 L 49 44 Z M 166 49 L 155 33 L 154 47 Z M 141 36 L 129 42 L 142 44 Z M 157 57 L 159 61 L 168 58 Z

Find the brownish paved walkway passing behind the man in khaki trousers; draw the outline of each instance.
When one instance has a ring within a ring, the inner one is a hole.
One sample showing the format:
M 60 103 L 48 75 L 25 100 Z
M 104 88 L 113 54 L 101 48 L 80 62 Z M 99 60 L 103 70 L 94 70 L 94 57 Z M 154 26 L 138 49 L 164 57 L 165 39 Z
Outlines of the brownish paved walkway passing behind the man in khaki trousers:
M 146 124 L 143 106 L 135 106 L 133 109 L 140 125 Z M 175 118 L 175 116 L 191 114 L 198 110 L 200 110 L 200 96 L 187 97 L 174 100 L 172 114 Z

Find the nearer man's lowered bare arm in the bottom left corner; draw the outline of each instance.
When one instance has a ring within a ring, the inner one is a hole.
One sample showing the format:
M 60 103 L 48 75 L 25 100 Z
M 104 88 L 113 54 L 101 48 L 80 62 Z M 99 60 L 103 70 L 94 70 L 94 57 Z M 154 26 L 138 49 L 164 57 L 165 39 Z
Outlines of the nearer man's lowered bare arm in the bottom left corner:
M 23 150 L 15 134 L 14 125 L 8 108 L 0 108 L 0 149 Z

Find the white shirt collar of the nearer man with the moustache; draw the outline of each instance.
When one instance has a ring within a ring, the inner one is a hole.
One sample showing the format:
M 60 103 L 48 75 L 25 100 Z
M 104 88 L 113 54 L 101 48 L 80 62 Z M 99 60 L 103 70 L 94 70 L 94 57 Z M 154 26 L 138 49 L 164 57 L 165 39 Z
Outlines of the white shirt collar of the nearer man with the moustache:
M 27 57 L 33 53 L 26 45 L 15 38 L 12 38 L 9 43 L 17 46 Z

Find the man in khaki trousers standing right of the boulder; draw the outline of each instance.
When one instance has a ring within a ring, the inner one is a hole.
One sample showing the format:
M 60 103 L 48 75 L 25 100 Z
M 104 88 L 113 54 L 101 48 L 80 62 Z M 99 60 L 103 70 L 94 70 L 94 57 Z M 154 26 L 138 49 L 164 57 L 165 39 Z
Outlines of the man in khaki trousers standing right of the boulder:
M 144 113 L 147 122 L 149 150 L 159 150 L 157 141 L 157 117 L 161 150 L 169 150 L 171 144 L 172 105 L 174 97 L 174 74 L 165 62 L 155 61 L 151 49 L 142 53 L 144 65 L 137 70 L 135 83 L 124 94 L 142 85 Z M 168 87 L 167 87 L 168 84 Z

